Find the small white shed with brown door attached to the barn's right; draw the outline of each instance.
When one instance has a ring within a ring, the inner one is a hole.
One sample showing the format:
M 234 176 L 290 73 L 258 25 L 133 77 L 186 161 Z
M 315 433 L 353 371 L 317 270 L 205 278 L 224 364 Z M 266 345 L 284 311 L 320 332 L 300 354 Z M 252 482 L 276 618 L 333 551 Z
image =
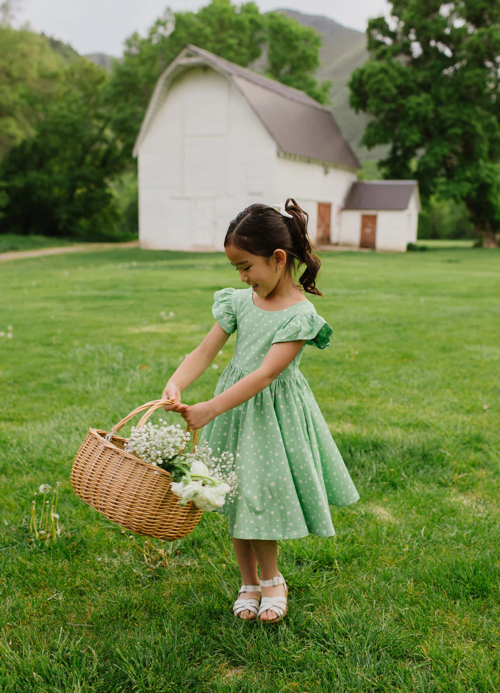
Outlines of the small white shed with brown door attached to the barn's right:
M 339 244 L 404 251 L 416 243 L 419 212 L 416 180 L 353 183 L 343 204 Z

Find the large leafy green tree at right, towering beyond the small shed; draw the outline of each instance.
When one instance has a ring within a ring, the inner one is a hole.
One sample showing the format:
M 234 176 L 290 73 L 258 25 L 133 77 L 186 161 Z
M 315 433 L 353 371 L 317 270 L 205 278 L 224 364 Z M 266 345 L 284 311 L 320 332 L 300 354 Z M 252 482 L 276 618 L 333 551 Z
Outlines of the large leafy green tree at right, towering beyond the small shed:
M 384 177 L 416 177 L 424 198 L 463 200 L 483 245 L 500 228 L 500 3 L 393 0 L 368 23 L 373 58 L 350 103 L 373 116 L 361 140 L 389 144 Z

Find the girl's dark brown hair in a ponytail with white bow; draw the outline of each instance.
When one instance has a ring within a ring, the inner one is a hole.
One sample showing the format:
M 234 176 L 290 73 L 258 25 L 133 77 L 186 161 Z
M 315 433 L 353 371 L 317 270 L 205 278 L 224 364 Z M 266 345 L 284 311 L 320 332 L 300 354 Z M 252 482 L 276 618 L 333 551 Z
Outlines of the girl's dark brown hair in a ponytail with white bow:
M 321 260 L 312 254 L 311 242 L 307 236 L 309 215 L 298 207 L 293 198 L 288 198 L 285 202 L 285 211 L 291 214 L 292 218 L 283 216 L 267 204 L 251 204 L 229 224 L 224 247 L 232 243 L 241 250 L 265 258 L 270 258 L 276 249 L 281 248 L 287 253 L 285 271 L 293 276 L 294 270 L 305 265 L 305 270 L 298 280 L 303 290 L 323 296 L 321 291 L 316 289 L 316 277 Z

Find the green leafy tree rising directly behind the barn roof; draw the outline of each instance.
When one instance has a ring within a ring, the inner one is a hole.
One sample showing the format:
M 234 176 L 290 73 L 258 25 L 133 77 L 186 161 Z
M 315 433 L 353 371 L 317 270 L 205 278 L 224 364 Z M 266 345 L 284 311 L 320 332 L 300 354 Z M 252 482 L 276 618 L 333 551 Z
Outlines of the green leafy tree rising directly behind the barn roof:
M 114 64 L 107 86 L 112 126 L 132 152 L 154 85 L 186 44 L 242 67 L 257 60 L 267 46 L 269 76 L 324 102 L 329 85 L 319 86 L 313 76 L 320 43 L 314 30 L 285 15 L 261 15 L 254 2 L 236 6 L 231 0 L 211 0 L 198 12 L 167 10 L 146 37 L 135 33 L 127 39 L 123 61 Z

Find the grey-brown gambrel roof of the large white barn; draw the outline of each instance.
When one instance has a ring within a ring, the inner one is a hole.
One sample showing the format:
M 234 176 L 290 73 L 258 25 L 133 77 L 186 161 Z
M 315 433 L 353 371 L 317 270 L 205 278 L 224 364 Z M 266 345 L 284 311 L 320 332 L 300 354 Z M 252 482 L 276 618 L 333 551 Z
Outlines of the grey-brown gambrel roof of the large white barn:
M 135 156 L 172 80 L 197 65 L 208 65 L 233 82 L 283 154 L 346 168 L 360 167 L 328 108 L 299 89 L 287 87 L 192 44 L 177 55 L 159 78 L 136 140 Z

